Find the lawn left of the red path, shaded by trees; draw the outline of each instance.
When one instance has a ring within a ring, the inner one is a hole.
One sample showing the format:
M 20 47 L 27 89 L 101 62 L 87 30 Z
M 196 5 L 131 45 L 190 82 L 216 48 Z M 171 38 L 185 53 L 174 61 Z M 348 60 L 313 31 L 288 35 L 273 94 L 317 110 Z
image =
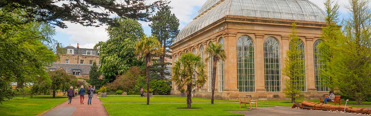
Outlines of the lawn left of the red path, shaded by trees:
M 1 116 L 35 116 L 52 107 L 67 101 L 67 97 L 37 95 L 30 97 L 15 97 L 0 105 Z

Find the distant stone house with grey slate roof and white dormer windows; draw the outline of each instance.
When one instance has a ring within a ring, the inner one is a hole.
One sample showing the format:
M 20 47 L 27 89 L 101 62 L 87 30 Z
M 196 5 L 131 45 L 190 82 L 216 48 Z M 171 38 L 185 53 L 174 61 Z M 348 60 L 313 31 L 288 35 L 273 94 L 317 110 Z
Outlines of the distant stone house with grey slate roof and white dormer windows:
M 79 43 L 75 48 L 68 45 L 58 52 L 59 59 L 52 63 L 49 70 L 63 69 L 67 74 L 75 75 L 76 77 L 89 79 L 89 71 L 93 62 L 96 62 L 99 67 L 99 54 L 96 49 L 79 48 Z M 102 77 L 102 76 L 101 76 Z

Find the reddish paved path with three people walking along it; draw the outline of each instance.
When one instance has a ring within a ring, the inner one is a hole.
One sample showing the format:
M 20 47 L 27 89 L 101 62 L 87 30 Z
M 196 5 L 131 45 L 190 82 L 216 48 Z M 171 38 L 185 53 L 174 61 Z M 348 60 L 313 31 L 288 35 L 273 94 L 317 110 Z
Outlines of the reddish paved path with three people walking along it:
M 92 99 L 92 105 L 88 105 L 87 102 L 88 95 L 85 95 L 85 104 L 80 104 L 80 96 L 74 97 L 72 104 L 68 104 L 68 101 L 63 102 L 41 116 L 109 116 L 96 95 Z

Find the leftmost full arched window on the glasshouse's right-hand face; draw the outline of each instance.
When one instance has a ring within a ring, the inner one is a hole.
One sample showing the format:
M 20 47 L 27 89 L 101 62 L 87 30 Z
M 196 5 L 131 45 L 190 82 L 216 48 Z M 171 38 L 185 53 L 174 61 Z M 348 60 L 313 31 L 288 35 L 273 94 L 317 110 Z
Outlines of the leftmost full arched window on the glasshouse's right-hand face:
M 237 39 L 237 88 L 240 92 L 255 92 L 254 42 L 250 36 Z

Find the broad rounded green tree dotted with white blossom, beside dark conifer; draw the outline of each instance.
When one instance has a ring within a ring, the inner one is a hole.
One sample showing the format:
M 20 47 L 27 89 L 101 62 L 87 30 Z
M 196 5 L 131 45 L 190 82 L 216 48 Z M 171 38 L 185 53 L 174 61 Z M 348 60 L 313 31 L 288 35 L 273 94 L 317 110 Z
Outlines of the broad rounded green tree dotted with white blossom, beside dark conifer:
M 94 46 L 98 49 L 101 66 L 100 72 L 108 82 L 113 82 L 116 75 L 128 71 L 130 67 L 142 65 L 135 56 L 135 44 L 145 35 L 142 25 L 133 19 L 116 19 L 119 26 L 109 26 L 106 30 L 109 39 Z

